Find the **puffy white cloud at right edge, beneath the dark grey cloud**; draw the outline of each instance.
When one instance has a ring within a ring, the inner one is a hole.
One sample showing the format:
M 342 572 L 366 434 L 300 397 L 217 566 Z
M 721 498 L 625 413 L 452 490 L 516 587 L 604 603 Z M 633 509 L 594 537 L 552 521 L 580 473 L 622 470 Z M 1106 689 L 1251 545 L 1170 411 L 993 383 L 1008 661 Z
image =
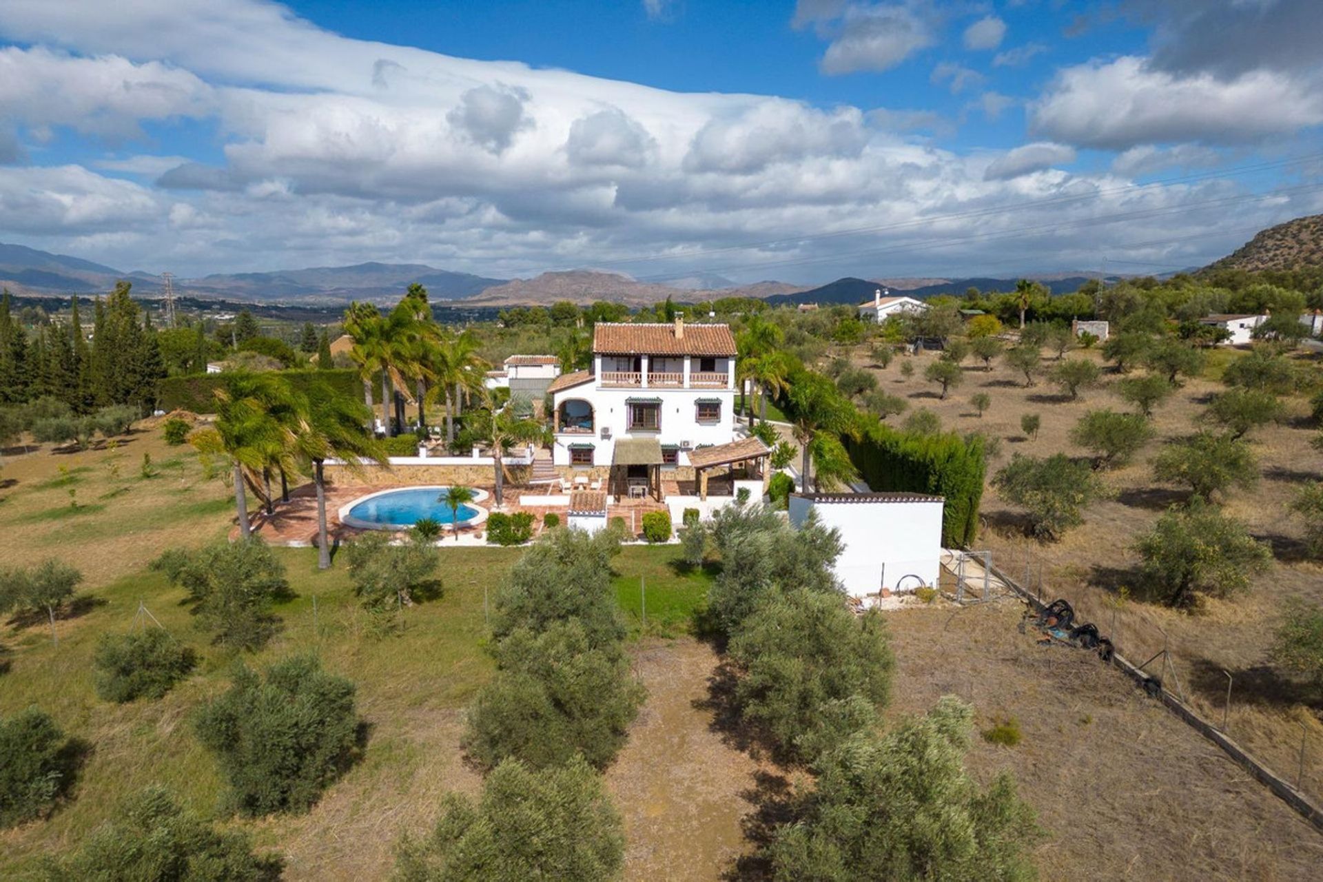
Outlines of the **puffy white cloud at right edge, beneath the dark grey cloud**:
M 1323 123 L 1323 90 L 1256 70 L 1230 81 L 1177 75 L 1125 56 L 1068 67 L 1029 107 L 1035 135 L 1082 147 L 1234 144 Z

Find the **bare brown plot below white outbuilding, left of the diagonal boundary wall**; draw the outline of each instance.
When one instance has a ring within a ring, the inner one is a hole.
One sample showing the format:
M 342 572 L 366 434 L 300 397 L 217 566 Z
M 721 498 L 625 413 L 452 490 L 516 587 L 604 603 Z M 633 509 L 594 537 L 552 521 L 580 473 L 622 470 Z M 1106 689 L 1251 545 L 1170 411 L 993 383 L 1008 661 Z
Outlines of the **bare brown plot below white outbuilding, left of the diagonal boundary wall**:
M 1011 771 L 1049 840 L 1043 878 L 1315 879 L 1323 837 L 1211 742 L 1089 652 L 1035 645 L 1023 606 L 888 614 L 896 713 L 943 694 L 976 727 L 1013 717 L 1017 747 L 975 737 L 980 779 Z

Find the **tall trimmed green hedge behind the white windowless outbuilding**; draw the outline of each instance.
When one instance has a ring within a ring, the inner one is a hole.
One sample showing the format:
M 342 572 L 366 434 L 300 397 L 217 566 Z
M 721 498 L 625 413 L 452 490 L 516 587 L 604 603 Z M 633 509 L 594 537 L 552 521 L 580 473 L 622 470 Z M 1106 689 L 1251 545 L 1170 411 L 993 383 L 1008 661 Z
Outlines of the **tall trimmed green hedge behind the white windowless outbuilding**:
M 841 443 L 872 489 L 945 497 L 942 542 L 974 542 L 987 468 L 980 438 L 964 442 L 955 434 L 913 435 L 877 423 L 857 440 L 841 436 Z

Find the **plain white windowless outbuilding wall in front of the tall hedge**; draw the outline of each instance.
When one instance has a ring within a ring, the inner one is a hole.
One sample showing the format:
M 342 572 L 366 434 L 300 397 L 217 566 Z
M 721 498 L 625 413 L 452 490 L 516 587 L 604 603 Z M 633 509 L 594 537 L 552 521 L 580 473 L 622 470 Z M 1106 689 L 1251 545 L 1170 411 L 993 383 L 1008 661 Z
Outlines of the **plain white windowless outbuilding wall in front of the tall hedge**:
M 841 553 L 832 566 L 851 596 L 882 588 L 935 587 L 942 566 L 942 497 L 921 493 L 792 493 L 790 522 L 808 513 L 840 530 Z

